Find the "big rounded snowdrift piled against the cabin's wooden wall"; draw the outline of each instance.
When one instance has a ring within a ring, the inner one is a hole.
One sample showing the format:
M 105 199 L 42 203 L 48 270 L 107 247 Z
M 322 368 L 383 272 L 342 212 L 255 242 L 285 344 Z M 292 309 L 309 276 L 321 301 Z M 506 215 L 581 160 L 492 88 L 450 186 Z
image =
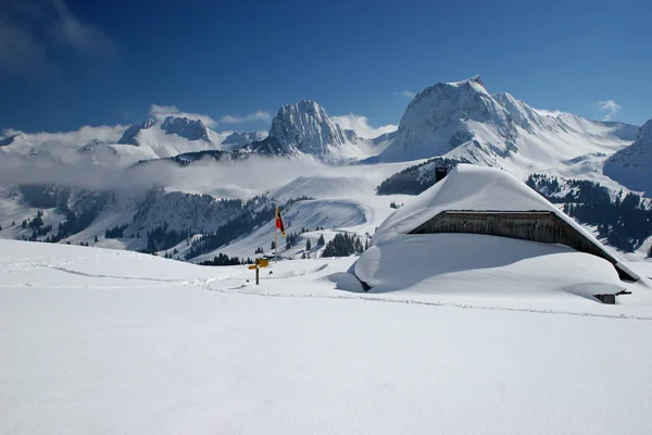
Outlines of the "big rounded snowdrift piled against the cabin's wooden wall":
M 561 245 L 477 234 L 406 235 L 373 246 L 354 265 L 372 293 L 559 298 L 625 289 L 616 270 Z

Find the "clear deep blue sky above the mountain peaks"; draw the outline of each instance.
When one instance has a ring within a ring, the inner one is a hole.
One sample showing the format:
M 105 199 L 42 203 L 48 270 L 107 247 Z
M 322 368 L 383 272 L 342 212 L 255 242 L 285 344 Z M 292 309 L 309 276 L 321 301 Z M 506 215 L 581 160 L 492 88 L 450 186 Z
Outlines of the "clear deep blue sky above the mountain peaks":
M 0 0 L 0 129 L 174 110 L 267 129 L 300 99 L 380 127 L 411 92 L 476 74 L 536 108 L 640 125 L 651 16 L 649 0 Z

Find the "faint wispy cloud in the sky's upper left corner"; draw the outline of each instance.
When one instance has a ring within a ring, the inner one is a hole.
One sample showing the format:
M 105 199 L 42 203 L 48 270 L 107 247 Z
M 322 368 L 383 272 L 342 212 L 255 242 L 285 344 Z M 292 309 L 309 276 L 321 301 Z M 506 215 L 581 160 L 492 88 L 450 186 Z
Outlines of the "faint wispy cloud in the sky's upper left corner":
M 113 59 L 117 45 L 63 0 L 0 0 L 0 72 L 58 72 L 57 50 Z

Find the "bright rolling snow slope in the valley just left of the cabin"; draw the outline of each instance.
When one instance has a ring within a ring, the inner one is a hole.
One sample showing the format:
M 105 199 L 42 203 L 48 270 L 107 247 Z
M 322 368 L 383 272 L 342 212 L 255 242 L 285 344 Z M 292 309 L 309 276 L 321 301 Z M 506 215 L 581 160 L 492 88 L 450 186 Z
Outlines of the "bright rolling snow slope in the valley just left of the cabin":
M 401 171 L 406 165 L 406 163 L 336 167 L 317 165 L 289 183 L 284 179 L 278 184 L 274 183 L 274 177 L 280 178 L 286 174 L 276 174 L 277 171 L 274 171 L 274 166 L 267 166 L 265 173 L 274 174 L 274 176 L 266 175 L 258 188 L 262 192 L 262 189 L 267 187 L 271 198 L 277 204 L 283 206 L 289 200 L 301 197 L 315 199 L 300 201 L 288 209 L 281 209 L 288 233 L 299 233 L 302 227 L 311 233 L 301 235 L 297 246 L 289 251 L 285 250 L 285 240 L 279 236 L 279 253 L 290 258 L 300 256 L 306 239 L 310 238 L 311 244 L 315 247 L 315 241 L 321 235 L 324 235 L 325 240 L 328 241 L 338 232 L 355 233 L 364 237 L 367 233 L 373 234 L 376 227 L 393 212 L 393 209 L 389 207 L 392 201 L 404 203 L 412 199 L 408 195 L 376 195 L 376 186 L 383 179 Z M 280 167 L 287 172 L 287 166 Z M 310 167 L 309 161 L 303 161 L 302 169 L 308 167 Z M 316 226 L 324 227 L 324 231 L 315 232 Z M 228 256 L 251 257 L 259 247 L 268 251 L 272 240 L 274 240 L 274 221 L 271 219 L 267 224 L 255 228 L 249 236 L 192 261 L 212 259 L 220 252 Z M 177 249 L 180 252 L 185 247 L 180 246 Z M 314 248 L 312 257 L 316 254 L 318 254 L 318 249 Z

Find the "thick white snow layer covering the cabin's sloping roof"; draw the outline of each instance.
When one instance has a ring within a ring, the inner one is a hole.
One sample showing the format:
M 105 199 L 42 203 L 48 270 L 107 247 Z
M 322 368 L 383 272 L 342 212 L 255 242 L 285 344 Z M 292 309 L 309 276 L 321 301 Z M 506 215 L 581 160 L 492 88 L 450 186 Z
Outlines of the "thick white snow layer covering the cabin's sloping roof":
M 552 212 L 619 262 L 589 232 L 518 178 L 499 169 L 472 164 L 459 164 L 441 182 L 398 209 L 380 225 L 373 245 L 405 235 L 444 211 Z

